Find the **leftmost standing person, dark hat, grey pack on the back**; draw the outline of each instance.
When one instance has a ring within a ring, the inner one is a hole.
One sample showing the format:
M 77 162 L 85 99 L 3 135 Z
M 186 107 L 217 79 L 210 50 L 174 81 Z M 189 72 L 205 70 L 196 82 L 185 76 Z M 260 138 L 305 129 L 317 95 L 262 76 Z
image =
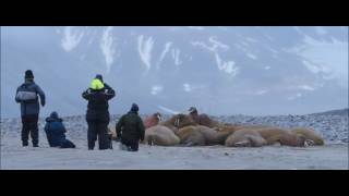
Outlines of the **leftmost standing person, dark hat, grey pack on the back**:
M 34 147 L 38 147 L 39 133 L 38 133 L 38 118 L 39 118 L 39 101 L 45 106 L 45 93 L 41 88 L 34 83 L 34 74 L 32 70 L 25 71 L 24 83 L 17 88 L 15 101 L 21 103 L 22 117 L 22 145 L 28 146 L 29 134 Z

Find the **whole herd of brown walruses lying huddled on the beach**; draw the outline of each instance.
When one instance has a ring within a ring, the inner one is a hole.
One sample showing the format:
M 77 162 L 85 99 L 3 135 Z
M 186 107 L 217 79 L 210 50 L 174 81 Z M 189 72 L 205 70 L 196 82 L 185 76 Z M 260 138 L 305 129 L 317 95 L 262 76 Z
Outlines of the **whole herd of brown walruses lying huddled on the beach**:
M 144 120 L 146 126 L 143 143 L 156 146 L 212 146 L 261 147 L 281 145 L 304 147 L 324 145 L 324 139 L 311 128 L 291 130 L 265 125 L 238 125 L 212 120 L 207 114 L 197 114 L 190 108 L 189 114 L 174 114 L 161 121 L 160 113 Z M 109 127 L 116 138 L 115 132 Z

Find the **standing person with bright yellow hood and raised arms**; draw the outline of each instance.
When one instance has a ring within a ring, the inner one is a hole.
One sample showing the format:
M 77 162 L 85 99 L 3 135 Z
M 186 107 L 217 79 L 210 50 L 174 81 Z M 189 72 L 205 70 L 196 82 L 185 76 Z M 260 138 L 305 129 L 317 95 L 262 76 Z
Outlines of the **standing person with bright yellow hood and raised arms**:
M 107 131 L 110 120 L 108 101 L 116 96 L 115 90 L 104 83 L 101 75 L 98 74 L 82 96 L 88 101 L 86 112 L 88 149 L 95 148 L 97 136 L 99 149 L 110 148 Z

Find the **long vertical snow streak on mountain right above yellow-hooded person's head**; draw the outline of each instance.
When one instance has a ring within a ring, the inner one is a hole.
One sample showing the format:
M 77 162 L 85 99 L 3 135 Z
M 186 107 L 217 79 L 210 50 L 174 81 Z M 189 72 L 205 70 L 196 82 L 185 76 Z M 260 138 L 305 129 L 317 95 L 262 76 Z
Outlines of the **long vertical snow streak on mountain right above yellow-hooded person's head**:
M 113 56 L 116 53 L 116 49 L 113 46 L 115 39 L 111 34 L 112 27 L 107 27 L 101 36 L 100 49 L 106 59 L 107 64 L 107 73 L 109 73 L 111 64 L 113 63 Z

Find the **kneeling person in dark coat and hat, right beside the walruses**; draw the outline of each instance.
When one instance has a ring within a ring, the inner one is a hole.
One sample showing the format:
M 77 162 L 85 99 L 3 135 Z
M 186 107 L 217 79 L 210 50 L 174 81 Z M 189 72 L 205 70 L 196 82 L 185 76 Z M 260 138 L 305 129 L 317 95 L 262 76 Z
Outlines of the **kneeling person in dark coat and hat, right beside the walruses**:
M 121 117 L 116 126 L 118 138 L 121 138 L 121 148 L 137 151 L 140 140 L 144 139 L 144 125 L 139 115 L 139 106 L 133 103 L 129 113 Z

